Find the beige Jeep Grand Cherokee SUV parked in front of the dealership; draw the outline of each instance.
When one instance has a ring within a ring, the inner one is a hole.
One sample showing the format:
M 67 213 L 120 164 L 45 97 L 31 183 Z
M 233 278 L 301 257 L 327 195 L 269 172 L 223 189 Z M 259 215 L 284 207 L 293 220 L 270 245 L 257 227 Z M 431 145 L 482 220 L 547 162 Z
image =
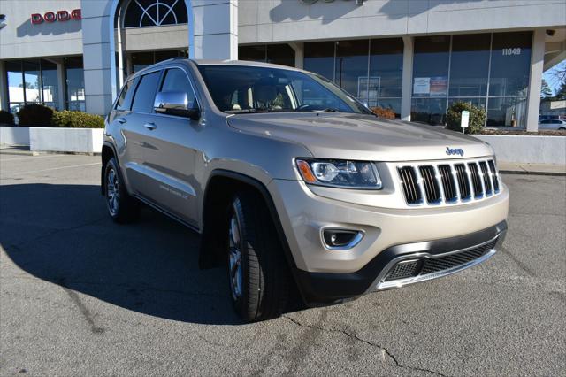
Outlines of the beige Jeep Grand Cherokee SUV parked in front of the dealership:
M 195 229 L 245 320 L 292 292 L 333 304 L 458 272 L 507 229 L 486 143 L 379 119 L 314 73 L 172 59 L 130 77 L 106 121 L 111 218 L 142 202 Z

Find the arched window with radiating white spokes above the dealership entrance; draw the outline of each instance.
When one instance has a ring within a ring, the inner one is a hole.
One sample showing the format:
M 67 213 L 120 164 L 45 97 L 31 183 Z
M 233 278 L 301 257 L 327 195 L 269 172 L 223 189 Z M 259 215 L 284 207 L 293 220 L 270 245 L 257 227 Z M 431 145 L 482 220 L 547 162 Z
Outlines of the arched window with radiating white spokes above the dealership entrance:
M 132 0 L 124 27 L 160 27 L 187 23 L 185 0 Z

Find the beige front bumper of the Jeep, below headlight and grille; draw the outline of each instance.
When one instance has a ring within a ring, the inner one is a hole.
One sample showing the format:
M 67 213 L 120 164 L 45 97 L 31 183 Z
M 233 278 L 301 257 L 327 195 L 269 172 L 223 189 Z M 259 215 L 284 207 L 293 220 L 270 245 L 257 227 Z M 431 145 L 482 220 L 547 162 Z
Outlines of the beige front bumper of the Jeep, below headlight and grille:
M 478 203 L 407 209 L 317 196 L 302 181 L 274 180 L 268 188 L 291 251 L 295 280 L 310 304 L 401 287 L 477 265 L 493 255 L 507 229 L 509 190 L 502 183 L 500 194 Z M 329 250 L 321 239 L 321 230 L 327 227 L 358 230 L 363 239 L 348 250 Z M 397 271 L 402 279 L 392 279 L 389 274 L 402 261 L 415 262 L 413 275 Z

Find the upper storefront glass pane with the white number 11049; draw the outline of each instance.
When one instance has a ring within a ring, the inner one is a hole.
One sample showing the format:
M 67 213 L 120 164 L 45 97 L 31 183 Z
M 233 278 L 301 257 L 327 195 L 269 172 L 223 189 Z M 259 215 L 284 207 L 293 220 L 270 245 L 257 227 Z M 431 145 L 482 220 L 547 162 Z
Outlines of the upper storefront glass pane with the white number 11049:
M 532 32 L 494 33 L 489 96 L 527 95 Z

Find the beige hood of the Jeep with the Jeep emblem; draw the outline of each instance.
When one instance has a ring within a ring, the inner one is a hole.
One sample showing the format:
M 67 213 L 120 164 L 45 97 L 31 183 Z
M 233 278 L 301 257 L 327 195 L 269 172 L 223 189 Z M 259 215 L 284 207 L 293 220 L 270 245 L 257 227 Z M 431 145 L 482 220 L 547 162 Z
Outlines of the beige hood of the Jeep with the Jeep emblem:
M 301 143 L 316 158 L 414 161 L 493 154 L 486 142 L 467 135 L 371 115 L 253 113 L 229 116 L 227 122 L 244 132 Z

